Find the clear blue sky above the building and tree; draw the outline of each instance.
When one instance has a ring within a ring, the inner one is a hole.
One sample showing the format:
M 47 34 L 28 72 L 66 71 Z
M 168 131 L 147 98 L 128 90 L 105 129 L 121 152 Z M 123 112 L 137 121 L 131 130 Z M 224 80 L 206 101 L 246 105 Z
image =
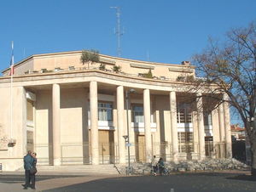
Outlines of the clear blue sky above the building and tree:
M 32 54 L 95 48 L 122 58 L 180 64 L 256 19 L 255 0 L 0 0 L 0 69 Z

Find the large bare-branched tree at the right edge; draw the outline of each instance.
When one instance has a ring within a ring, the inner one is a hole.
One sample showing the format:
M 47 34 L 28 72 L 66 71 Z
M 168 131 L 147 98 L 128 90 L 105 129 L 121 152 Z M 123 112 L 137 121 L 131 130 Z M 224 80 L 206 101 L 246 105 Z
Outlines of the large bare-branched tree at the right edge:
M 252 175 L 256 176 L 256 20 L 247 27 L 228 31 L 224 42 L 212 38 L 209 42 L 201 54 L 194 55 L 197 72 L 202 76 L 197 79 L 197 85 L 216 84 L 212 93 L 222 92 L 229 96 L 229 99 L 215 99 L 228 102 L 241 117 L 251 144 Z

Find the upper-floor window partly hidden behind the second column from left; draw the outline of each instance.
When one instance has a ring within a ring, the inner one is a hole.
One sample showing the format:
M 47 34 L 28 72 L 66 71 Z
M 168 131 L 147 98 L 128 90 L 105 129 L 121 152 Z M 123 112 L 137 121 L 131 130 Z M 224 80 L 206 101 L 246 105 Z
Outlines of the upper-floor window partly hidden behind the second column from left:
M 90 119 L 90 102 L 88 102 L 88 118 Z M 113 121 L 112 104 L 98 103 L 98 121 Z

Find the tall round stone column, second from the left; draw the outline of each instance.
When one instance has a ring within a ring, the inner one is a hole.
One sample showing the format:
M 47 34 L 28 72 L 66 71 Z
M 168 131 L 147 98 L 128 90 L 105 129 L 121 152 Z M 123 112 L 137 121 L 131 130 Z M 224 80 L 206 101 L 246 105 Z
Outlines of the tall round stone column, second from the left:
M 90 150 L 91 164 L 99 164 L 97 82 L 90 82 Z

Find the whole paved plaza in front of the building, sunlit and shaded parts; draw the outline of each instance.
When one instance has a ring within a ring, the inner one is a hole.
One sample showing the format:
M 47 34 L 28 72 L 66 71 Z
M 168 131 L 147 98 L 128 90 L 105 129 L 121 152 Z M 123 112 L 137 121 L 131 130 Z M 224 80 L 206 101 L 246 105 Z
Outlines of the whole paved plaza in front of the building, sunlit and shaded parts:
M 0 191 L 183 192 L 256 191 L 248 171 L 188 172 L 166 176 L 83 175 L 41 172 L 36 190 L 23 190 L 24 175 L 0 172 Z

